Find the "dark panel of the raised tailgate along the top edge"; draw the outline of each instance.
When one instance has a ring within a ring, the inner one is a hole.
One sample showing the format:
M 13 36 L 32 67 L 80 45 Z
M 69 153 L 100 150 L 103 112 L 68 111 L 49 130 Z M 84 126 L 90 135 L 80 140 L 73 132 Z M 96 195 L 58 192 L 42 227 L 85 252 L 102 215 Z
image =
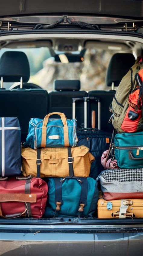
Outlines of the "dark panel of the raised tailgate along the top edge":
M 10 6 L 10 8 L 9 8 Z M 1 1 L 0 16 L 8 15 L 30 15 L 30 14 L 45 14 L 45 13 L 82 13 L 93 15 L 112 15 L 121 17 L 142 17 L 143 1 L 142 0 L 13 0 L 12 5 L 10 0 Z

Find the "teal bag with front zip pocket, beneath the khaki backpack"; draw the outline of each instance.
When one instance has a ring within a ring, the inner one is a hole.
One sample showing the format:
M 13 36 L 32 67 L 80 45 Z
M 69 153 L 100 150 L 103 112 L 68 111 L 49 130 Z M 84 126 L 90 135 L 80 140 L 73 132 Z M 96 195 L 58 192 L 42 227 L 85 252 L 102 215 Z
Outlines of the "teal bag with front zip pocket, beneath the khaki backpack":
M 120 168 L 143 168 L 143 132 L 117 133 L 112 147 Z

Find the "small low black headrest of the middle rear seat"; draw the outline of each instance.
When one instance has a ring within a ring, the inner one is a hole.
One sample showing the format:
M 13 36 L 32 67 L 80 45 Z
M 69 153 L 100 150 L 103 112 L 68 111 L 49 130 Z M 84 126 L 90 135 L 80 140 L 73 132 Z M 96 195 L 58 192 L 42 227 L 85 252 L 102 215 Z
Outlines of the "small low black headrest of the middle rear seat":
M 79 80 L 55 80 L 54 90 L 56 91 L 79 91 L 81 84 Z

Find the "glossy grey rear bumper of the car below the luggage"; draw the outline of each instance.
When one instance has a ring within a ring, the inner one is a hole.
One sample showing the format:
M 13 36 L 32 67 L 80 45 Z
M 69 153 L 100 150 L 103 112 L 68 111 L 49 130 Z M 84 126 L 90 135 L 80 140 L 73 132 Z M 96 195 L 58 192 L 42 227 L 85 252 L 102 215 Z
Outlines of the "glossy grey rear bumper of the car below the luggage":
M 142 256 L 143 225 L 0 225 L 0 255 Z M 126 232 L 128 230 L 128 232 Z

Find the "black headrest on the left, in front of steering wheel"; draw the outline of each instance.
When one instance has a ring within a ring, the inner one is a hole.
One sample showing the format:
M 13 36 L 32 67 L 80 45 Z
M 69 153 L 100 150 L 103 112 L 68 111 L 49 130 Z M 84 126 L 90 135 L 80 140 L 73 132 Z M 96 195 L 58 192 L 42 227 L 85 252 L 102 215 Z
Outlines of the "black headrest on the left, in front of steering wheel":
M 4 82 L 28 82 L 30 68 L 27 56 L 24 52 L 8 51 L 4 52 L 0 59 L 0 79 Z

